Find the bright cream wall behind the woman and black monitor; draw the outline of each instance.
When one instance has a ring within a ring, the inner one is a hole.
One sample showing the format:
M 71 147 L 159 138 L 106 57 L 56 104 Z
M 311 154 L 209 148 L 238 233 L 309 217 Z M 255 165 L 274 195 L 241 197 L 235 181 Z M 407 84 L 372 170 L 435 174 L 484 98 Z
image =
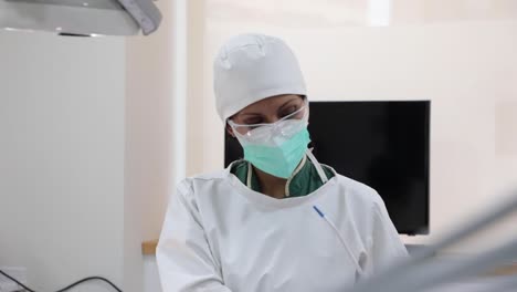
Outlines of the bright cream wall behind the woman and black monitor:
M 190 122 L 199 123 L 203 139 L 213 143 L 203 146 L 198 160 L 202 163 L 190 165 L 191 174 L 223 165 L 223 127 L 214 109 L 211 60 L 228 38 L 263 32 L 285 39 L 294 49 L 313 101 L 432 101 L 432 234 L 486 210 L 502 200 L 499 190 L 517 186 L 517 176 L 513 175 L 517 173 L 516 153 L 496 152 L 496 133 L 505 149 L 515 145 L 517 133 L 511 118 L 517 116 L 517 107 L 507 106 L 515 105 L 517 100 L 517 11 L 498 14 L 498 10 L 490 10 L 494 13 L 486 18 L 479 10 L 455 15 L 444 12 L 449 6 L 439 9 L 425 1 L 431 9 L 419 10 L 422 19 L 410 19 L 409 24 L 365 28 L 359 27 L 361 21 L 336 24 L 329 20 L 338 15 L 338 10 L 303 11 L 303 4 L 287 0 L 253 2 L 253 8 L 231 0 L 208 3 L 204 96 L 197 105 L 203 114 Z M 510 6 L 508 1 L 505 3 Z M 310 8 L 308 3 L 305 7 Z M 292 13 L 277 13 L 278 9 Z M 361 15 L 350 19 L 362 20 Z M 405 19 L 399 20 L 404 23 Z M 504 118 L 502 111 L 508 112 Z M 497 243 L 517 233 L 516 220 L 514 217 L 497 232 L 473 239 L 453 251 L 475 252 Z M 404 240 L 429 242 L 432 237 Z

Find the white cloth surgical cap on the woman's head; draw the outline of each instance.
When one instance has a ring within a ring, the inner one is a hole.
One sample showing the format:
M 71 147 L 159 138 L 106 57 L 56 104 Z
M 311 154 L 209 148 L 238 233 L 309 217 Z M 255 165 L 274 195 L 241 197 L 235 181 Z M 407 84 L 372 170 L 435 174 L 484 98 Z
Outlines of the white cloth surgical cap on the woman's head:
M 215 106 L 221 119 L 261 100 L 307 95 L 304 76 L 293 51 L 281 39 L 241 34 L 230 39 L 213 62 Z

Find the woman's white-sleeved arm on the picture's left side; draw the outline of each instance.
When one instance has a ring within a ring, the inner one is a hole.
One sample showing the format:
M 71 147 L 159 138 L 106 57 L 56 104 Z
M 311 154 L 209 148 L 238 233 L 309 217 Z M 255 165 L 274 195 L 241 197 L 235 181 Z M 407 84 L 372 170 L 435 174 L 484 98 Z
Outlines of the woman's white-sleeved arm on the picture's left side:
M 169 202 L 156 259 L 163 292 L 231 292 L 212 257 L 199 210 L 186 181 Z

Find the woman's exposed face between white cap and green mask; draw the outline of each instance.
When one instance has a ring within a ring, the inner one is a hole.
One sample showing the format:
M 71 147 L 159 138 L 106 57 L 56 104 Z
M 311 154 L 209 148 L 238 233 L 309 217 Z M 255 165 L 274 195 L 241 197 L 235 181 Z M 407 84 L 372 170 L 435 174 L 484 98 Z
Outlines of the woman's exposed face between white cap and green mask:
M 305 105 L 305 97 L 300 95 L 276 95 L 242 108 L 230 119 L 240 125 L 255 125 L 275 123 L 284 117 L 302 118 L 304 112 L 300 112 L 300 109 Z M 233 131 L 230 126 L 228 126 L 228 131 L 233 136 Z

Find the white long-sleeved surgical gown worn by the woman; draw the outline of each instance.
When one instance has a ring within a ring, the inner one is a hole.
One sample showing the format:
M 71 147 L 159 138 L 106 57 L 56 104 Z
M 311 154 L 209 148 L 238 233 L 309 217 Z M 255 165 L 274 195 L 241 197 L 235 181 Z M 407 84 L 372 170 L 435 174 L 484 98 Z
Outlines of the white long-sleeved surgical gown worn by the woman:
M 336 175 L 316 191 L 275 199 L 230 167 L 184 179 L 171 197 L 157 248 L 163 292 L 344 291 L 407 251 L 371 188 Z

